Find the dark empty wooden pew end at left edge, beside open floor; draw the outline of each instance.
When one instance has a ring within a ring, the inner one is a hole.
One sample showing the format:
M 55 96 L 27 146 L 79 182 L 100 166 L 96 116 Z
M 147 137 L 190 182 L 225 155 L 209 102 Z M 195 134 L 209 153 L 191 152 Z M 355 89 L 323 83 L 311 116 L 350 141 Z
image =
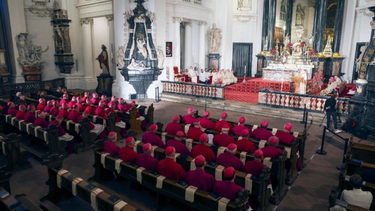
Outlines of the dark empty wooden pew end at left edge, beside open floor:
M 7 158 L 6 169 L 9 171 L 17 171 L 31 167 L 29 161 L 23 158 L 19 148 L 21 135 L 10 133 L 0 138 L 2 154 Z

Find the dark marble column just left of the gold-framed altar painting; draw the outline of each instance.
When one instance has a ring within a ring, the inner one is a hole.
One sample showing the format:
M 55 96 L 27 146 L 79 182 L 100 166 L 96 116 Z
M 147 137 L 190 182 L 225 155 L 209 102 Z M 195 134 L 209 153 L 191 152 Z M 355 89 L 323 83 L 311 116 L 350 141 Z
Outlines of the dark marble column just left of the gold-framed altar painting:
M 328 0 L 320 0 L 319 2 L 319 15 L 318 21 L 316 25 L 316 36 L 315 36 L 315 51 L 321 52 L 323 51 L 323 42 L 324 42 L 324 30 L 325 30 L 325 22 L 327 17 L 327 1 Z

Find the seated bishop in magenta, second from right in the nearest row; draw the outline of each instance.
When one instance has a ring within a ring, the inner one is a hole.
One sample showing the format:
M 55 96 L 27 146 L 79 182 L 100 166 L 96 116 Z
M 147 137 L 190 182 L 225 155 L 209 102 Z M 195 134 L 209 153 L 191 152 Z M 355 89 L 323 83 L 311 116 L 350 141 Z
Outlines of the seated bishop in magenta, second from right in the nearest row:
M 195 170 L 189 170 L 186 173 L 185 180 L 192 186 L 211 192 L 215 185 L 215 178 L 204 171 L 205 158 L 198 155 L 194 159 Z

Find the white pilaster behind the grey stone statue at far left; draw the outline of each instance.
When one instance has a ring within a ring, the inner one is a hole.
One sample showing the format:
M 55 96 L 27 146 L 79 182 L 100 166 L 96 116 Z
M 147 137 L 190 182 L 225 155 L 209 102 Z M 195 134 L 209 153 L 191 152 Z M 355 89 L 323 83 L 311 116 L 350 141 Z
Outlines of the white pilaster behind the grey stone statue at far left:
M 9 12 L 9 22 L 11 27 L 11 37 L 9 37 L 8 40 L 10 57 L 10 67 L 8 68 L 11 68 L 12 82 L 21 83 L 24 82 L 24 78 L 22 75 L 22 66 L 17 61 L 17 57 L 19 56 L 19 54 L 15 42 L 15 36 L 17 36 L 20 32 L 26 31 L 23 0 L 8 0 L 7 3 Z

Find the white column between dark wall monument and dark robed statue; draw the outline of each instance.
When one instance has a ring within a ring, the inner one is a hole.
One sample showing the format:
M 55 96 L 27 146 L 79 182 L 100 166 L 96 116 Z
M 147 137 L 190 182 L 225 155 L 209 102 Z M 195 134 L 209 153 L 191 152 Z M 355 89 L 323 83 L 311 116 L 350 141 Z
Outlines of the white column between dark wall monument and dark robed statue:
M 84 68 L 84 81 L 93 80 L 93 56 L 92 56 L 92 38 L 91 38 L 91 23 L 90 18 L 80 18 L 80 24 L 82 25 L 82 36 L 83 36 L 83 68 Z

